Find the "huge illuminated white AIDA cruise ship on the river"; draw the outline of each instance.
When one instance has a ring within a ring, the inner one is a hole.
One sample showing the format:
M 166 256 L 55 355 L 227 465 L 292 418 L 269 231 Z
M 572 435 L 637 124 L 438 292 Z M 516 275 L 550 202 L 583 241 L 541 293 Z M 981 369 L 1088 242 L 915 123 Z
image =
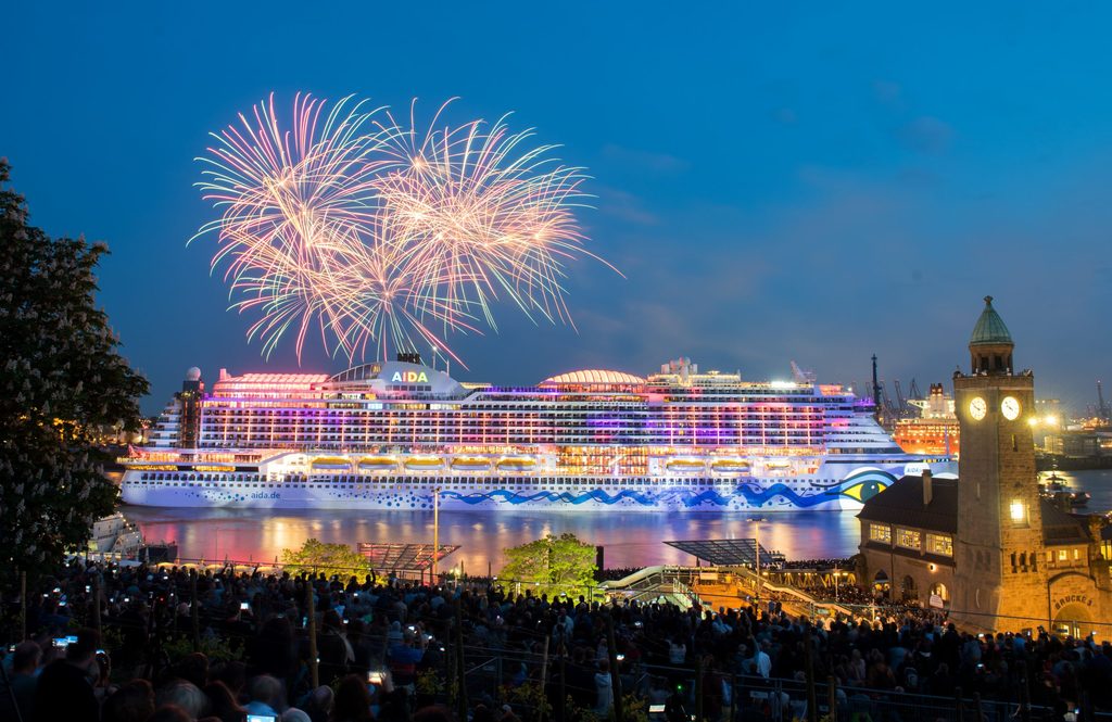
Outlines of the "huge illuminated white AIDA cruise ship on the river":
M 419 357 L 340 374 L 191 368 L 122 498 L 148 506 L 857 510 L 952 459 L 901 449 L 850 389 L 743 380 L 689 359 L 641 377 L 460 383 Z

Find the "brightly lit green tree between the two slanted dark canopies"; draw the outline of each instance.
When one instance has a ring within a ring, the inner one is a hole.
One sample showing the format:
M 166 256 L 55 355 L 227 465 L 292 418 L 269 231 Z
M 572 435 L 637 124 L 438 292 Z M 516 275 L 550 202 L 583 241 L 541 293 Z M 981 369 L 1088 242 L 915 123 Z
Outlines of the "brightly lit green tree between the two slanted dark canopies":
M 594 584 L 595 547 L 580 542 L 575 534 L 549 534 L 528 544 L 505 550 L 506 566 L 502 577 L 533 584 L 536 594 L 549 597 L 566 592 L 583 594 Z

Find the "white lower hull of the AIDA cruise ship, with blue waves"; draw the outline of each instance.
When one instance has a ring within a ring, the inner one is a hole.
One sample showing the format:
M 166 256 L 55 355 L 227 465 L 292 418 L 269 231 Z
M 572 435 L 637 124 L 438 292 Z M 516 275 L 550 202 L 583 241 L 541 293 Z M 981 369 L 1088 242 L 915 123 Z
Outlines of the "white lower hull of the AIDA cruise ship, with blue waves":
M 149 479 L 125 474 L 127 504 L 163 507 L 431 510 L 627 510 L 642 512 L 797 512 L 858 510 L 907 471 L 905 464 L 853 467 L 840 481 L 814 477 L 532 477 L 327 475 L 285 478 L 190 475 Z M 936 465 L 936 473 L 945 473 Z

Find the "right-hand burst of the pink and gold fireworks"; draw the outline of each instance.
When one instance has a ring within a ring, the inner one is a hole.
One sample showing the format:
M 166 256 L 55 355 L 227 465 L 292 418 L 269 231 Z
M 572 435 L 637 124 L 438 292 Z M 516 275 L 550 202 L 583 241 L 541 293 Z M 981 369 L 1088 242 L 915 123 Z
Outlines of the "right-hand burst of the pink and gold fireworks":
M 512 133 L 505 117 L 441 125 L 447 105 L 424 130 L 416 101 L 407 125 L 387 113 L 380 126 L 393 164 L 376 186 L 391 237 L 417 259 L 419 304 L 480 309 L 495 327 L 489 301 L 506 297 L 569 322 L 560 279 L 583 247 L 573 214 L 585 198 L 583 169 L 548 157 L 555 146 L 527 149 L 532 130 Z

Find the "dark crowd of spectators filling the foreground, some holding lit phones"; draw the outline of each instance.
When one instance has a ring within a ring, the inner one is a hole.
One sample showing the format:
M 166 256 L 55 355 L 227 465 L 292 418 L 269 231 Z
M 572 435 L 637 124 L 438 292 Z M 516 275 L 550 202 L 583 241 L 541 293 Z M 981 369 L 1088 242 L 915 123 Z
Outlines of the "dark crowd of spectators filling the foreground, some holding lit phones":
M 455 706 L 438 705 L 460 657 L 477 722 L 514 722 L 543 703 L 553 720 L 605 715 L 619 690 L 669 720 L 696 709 L 711 721 L 728 709 L 776 716 L 790 711 L 762 708 L 754 700 L 768 695 L 753 692 L 801 683 L 808 669 L 833 678 L 843 700 L 952 700 L 960 688 L 1059 711 L 1112 708 L 1112 647 L 1092 637 L 979 637 L 892 610 L 880 621 L 806 620 L 766 600 L 708 610 L 514 592 L 493 581 L 428 587 L 81 563 L 29 595 L 32 634 L 9 647 L 0 719 L 454 719 Z M 10 616 L 19 600 L 6 601 Z M 82 625 L 101 632 L 75 634 Z M 515 694 L 529 685 L 539 700 Z

